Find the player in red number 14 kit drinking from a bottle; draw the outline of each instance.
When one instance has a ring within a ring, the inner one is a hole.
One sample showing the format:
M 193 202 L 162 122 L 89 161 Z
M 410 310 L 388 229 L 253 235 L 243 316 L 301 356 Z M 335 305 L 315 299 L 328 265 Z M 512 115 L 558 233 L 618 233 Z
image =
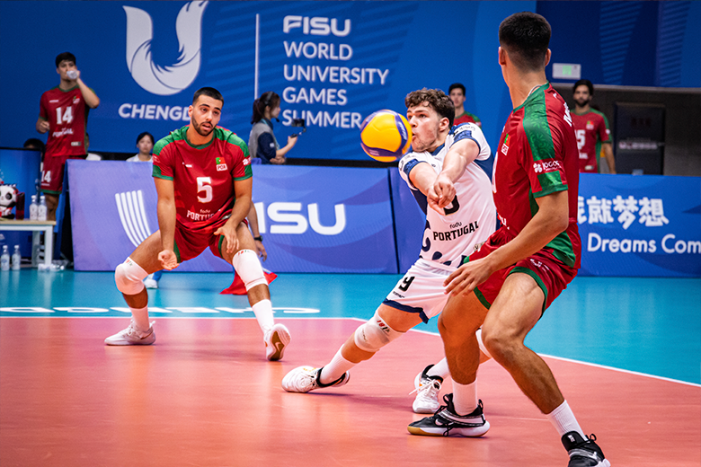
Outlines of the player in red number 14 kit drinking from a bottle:
M 97 95 L 83 83 L 72 53 L 58 54 L 56 73 L 61 77 L 61 82 L 41 94 L 36 124 L 38 132 L 49 132 L 40 185 L 46 195 L 49 221 L 56 220 L 66 161 L 85 158 L 88 111 L 100 105 Z

